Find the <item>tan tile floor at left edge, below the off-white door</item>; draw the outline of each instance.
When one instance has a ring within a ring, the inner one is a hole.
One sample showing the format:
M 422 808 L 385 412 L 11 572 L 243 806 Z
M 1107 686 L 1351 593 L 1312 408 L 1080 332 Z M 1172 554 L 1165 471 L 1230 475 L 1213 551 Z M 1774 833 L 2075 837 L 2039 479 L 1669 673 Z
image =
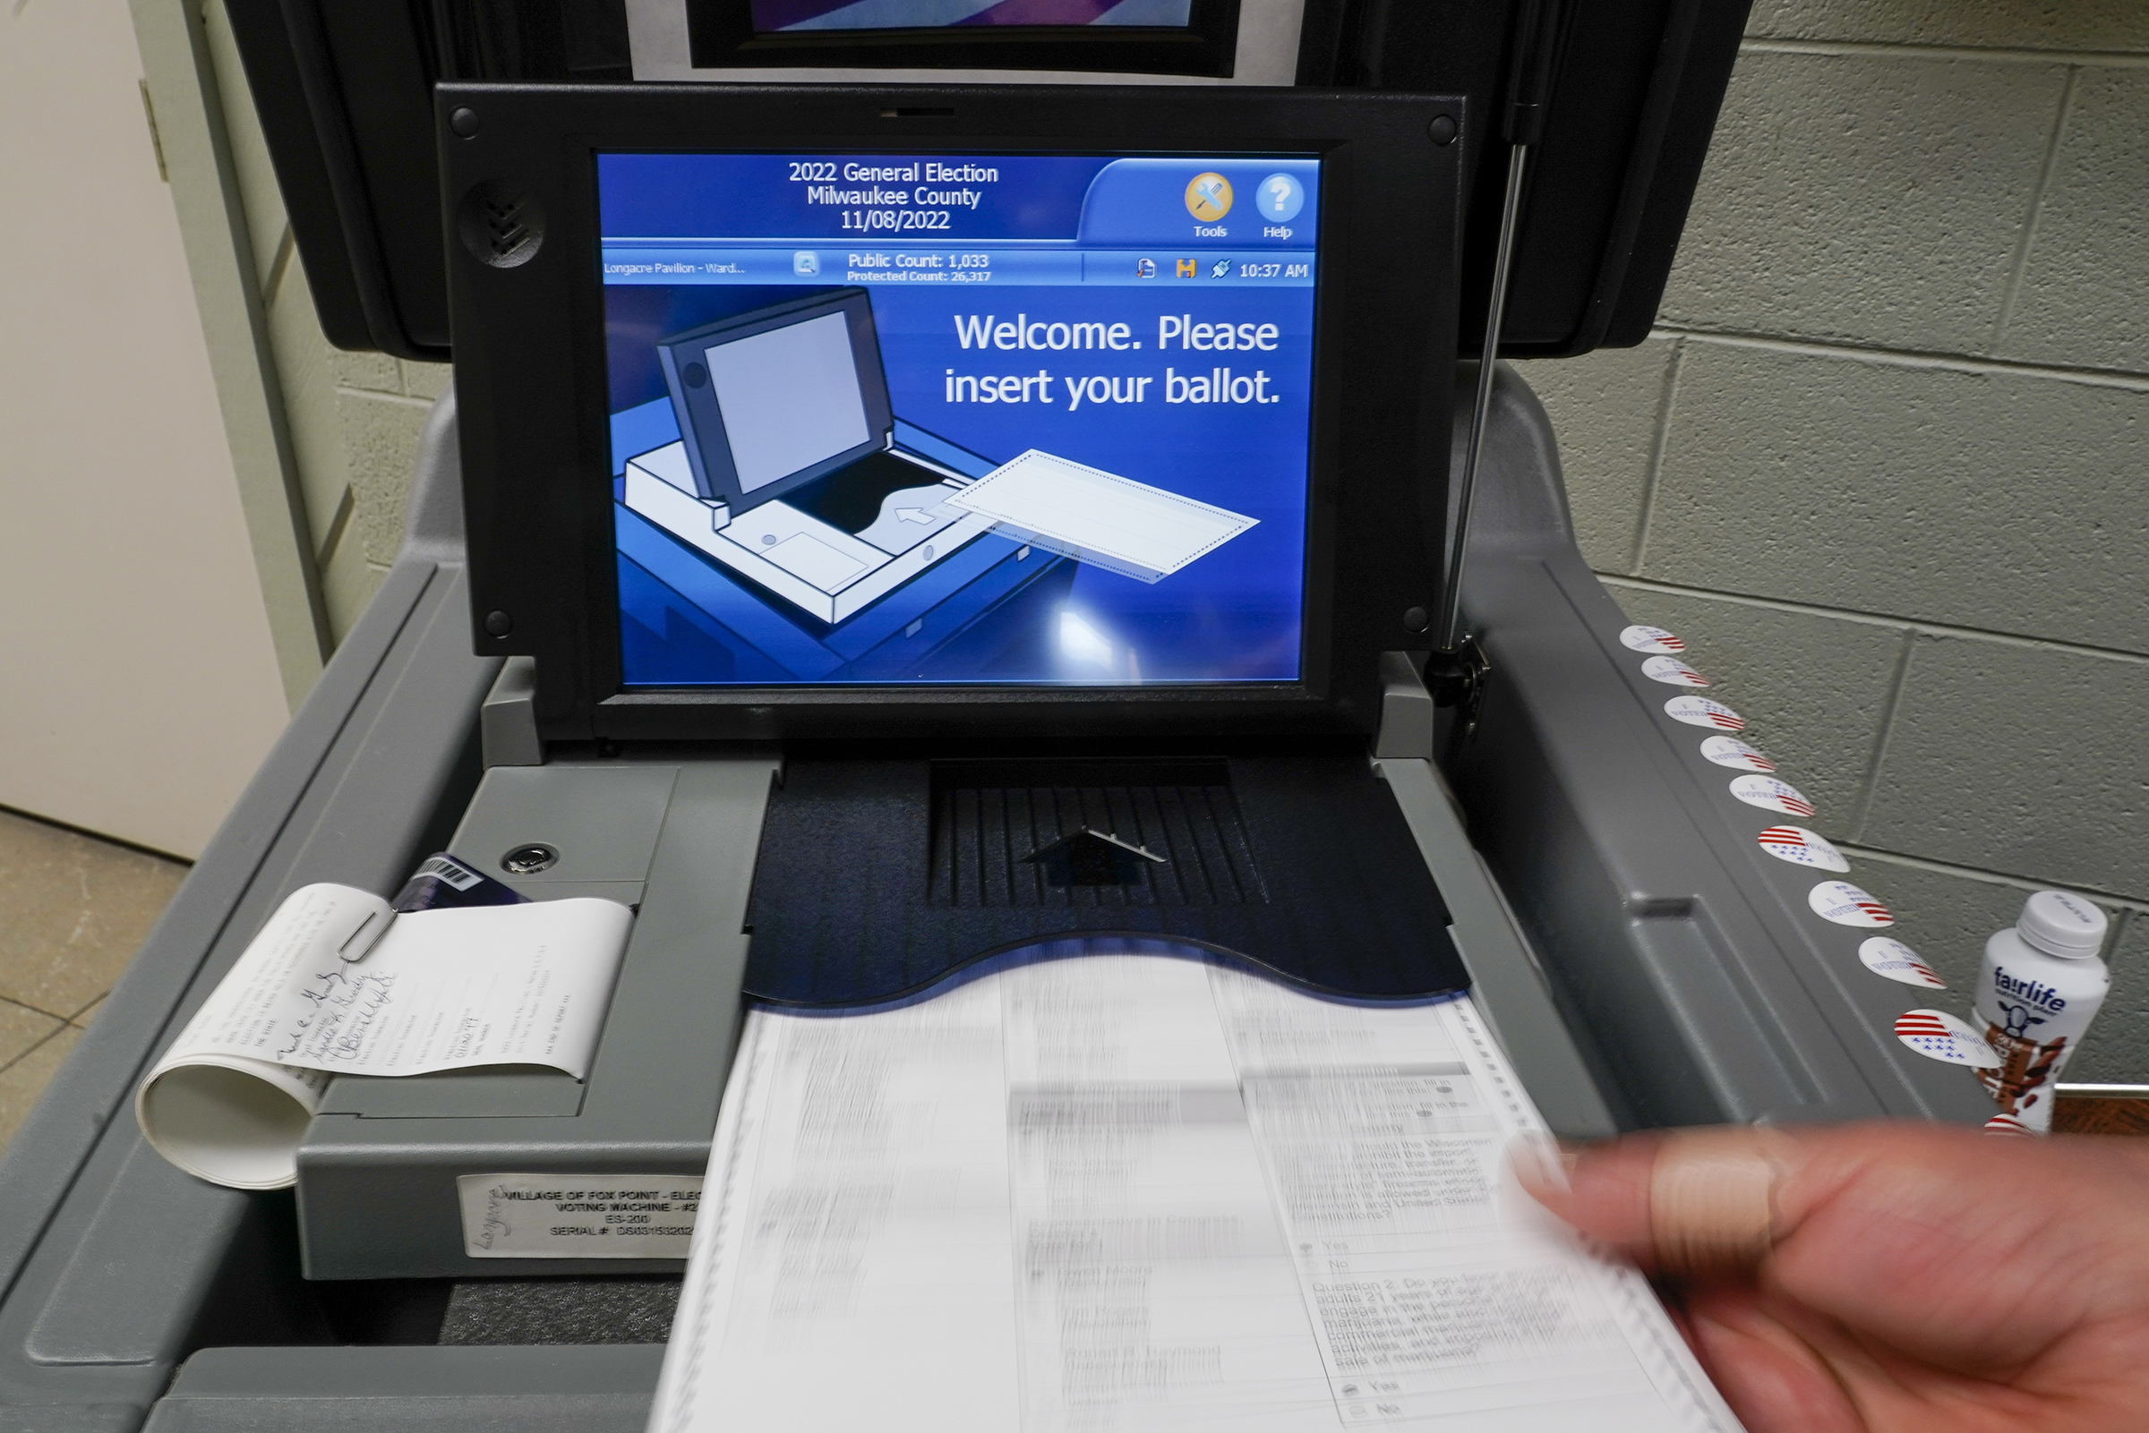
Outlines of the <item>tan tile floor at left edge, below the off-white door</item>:
M 0 810 L 0 1149 L 187 864 Z

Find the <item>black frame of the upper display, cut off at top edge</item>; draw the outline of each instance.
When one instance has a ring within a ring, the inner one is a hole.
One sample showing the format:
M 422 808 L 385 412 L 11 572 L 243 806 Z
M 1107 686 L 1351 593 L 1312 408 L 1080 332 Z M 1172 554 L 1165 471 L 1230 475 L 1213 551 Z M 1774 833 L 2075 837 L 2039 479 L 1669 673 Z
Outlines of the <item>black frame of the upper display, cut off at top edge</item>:
M 1193 0 L 1184 26 L 754 30 L 752 0 L 686 0 L 694 69 L 1087 69 L 1229 79 L 1240 0 Z

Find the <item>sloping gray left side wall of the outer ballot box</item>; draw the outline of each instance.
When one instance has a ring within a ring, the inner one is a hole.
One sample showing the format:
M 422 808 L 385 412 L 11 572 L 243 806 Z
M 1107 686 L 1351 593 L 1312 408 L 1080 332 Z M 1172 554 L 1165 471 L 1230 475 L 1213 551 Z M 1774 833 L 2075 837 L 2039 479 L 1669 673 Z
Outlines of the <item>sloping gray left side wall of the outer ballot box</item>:
M 288 1199 L 178 1175 L 129 1100 L 290 889 L 393 889 L 475 784 L 499 662 L 468 655 L 438 415 L 428 445 L 404 559 L 0 1160 L 0 1429 L 131 1429 L 202 1341 L 327 1336 L 277 1253 Z

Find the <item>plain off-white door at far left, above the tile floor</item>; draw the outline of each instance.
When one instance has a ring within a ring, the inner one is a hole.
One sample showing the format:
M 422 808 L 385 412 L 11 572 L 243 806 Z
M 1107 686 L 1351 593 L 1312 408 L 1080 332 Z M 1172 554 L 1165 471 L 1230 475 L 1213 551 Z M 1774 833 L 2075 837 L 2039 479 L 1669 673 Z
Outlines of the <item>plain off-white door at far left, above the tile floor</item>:
M 0 11 L 0 806 L 196 855 L 286 705 L 140 79 Z

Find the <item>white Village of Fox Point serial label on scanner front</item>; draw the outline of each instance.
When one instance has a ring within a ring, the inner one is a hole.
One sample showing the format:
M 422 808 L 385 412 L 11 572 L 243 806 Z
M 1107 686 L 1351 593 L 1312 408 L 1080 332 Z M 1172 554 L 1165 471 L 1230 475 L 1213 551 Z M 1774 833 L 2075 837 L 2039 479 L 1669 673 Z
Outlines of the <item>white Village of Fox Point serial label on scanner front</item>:
M 462 1175 L 471 1259 L 686 1259 L 701 1175 Z

